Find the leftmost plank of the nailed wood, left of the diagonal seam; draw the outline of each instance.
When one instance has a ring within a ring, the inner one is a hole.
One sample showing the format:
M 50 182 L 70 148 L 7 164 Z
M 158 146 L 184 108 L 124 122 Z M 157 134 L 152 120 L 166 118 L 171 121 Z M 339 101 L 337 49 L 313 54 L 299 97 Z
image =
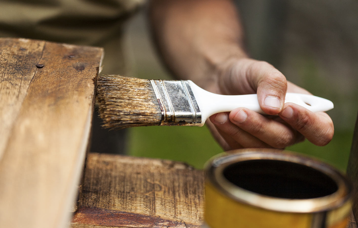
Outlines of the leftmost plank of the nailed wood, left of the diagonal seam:
M 0 158 L 31 79 L 42 56 L 44 41 L 0 39 Z

